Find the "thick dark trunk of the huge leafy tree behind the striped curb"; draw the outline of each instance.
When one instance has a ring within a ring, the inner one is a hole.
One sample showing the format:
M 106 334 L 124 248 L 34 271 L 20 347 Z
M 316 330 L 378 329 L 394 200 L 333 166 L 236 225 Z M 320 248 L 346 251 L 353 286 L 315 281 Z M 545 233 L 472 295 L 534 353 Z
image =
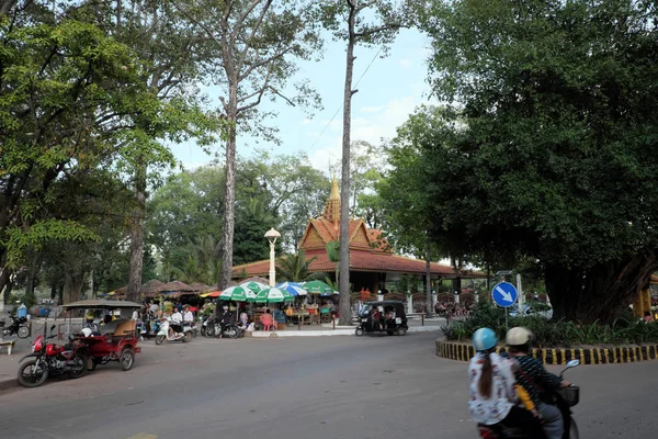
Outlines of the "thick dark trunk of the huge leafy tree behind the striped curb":
M 612 323 L 658 270 L 651 256 L 636 256 L 588 270 L 546 264 L 544 278 L 553 305 L 553 318 L 591 324 Z

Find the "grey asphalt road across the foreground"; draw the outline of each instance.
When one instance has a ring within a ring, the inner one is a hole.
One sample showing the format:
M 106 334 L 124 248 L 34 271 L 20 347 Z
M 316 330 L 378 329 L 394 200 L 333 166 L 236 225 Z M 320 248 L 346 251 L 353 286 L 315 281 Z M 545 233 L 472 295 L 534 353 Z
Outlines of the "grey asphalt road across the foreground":
M 466 364 L 435 357 L 435 337 L 145 342 L 129 372 L 105 365 L 0 395 L 0 437 L 476 438 Z M 570 371 L 581 437 L 653 437 L 657 369 Z

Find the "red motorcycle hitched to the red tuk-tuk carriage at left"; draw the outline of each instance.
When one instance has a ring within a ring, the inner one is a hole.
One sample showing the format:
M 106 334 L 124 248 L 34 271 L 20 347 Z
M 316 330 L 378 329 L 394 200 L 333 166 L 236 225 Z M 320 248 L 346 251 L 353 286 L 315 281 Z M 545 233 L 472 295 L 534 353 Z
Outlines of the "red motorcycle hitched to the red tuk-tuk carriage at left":
M 54 330 L 55 325 L 50 327 L 50 334 Z M 19 361 L 16 376 L 19 384 L 25 387 L 38 387 L 49 375 L 68 375 L 78 379 L 87 373 L 87 346 L 76 340 L 73 335 L 69 338 L 70 342 L 65 346 L 46 344 L 55 337 L 57 335 L 46 337 L 44 334 L 32 342 L 32 353 Z

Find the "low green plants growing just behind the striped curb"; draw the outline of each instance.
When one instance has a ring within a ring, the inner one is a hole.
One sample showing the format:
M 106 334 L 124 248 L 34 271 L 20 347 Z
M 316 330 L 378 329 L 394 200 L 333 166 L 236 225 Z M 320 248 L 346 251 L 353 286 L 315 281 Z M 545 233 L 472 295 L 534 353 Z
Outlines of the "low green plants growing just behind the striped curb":
M 551 322 L 542 317 L 509 317 L 509 327 L 524 326 L 535 335 L 537 347 L 572 347 L 585 345 L 642 345 L 658 342 L 658 323 L 646 323 L 638 318 L 619 318 L 612 324 L 599 322 L 578 324 L 575 322 Z M 473 333 L 481 327 L 496 331 L 504 341 L 508 327 L 504 309 L 490 304 L 479 304 L 463 322 L 442 327 L 449 340 L 468 341 Z

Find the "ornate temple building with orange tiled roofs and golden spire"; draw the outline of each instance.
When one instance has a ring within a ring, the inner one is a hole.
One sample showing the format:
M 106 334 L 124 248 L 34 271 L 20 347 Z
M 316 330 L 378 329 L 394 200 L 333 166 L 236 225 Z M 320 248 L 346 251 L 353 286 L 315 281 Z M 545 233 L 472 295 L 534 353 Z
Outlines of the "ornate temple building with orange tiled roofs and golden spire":
M 310 218 L 299 248 L 306 258 L 314 258 L 310 272 L 325 272 L 334 278 L 336 263 L 329 259 L 327 244 L 340 239 L 340 191 L 336 178 L 320 217 Z M 266 278 L 270 261 L 246 263 L 234 267 L 234 278 L 261 275 Z M 431 263 L 431 279 L 483 278 L 480 272 L 455 271 L 452 267 Z M 398 281 L 402 275 L 418 278 L 426 275 L 426 261 L 394 255 L 393 248 L 383 233 L 368 228 L 362 218 L 350 219 L 350 283 L 352 291 L 368 289 L 371 292 L 384 290 L 385 282 Z

